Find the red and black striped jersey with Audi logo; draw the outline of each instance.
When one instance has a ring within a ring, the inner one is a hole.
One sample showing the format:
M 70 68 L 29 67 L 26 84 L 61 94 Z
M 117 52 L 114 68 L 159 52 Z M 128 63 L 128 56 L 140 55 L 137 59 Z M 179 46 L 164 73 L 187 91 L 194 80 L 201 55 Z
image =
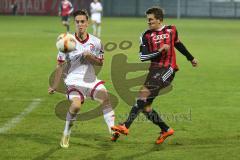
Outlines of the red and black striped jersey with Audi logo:
M 178 70 L 175 47 L 188 60 L 193 60 L 193 56 L 180 42 L 175 26 L 168 25 L 158 30 L 147 30 L 140 37 L 140 43 L 140 59 L 141 61 L 151 60 L 152 67 L 172 67 L 174 70 Z M 164 44 L 169 45 L 169 50 L 159 52 L 158 50 Z

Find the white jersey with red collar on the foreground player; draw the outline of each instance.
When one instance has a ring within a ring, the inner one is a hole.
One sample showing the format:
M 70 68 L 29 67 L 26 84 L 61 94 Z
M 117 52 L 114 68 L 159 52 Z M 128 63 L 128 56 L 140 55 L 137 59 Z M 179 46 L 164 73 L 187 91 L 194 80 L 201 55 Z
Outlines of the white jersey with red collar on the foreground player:
M 92 82 L 96 80 L 96 74 L 93 65 L 83 58 L 83 52 L 90 52 L 97 58 L 103 60 L 103 48 L 100 39 L 88 34 L 86 40 L 81 41 L 75 34 L 76 50 L 65 54 L 59 52 L 58 62 L 66 61 L 69 64 L 66 85 L 77 85 L 80 81 Z

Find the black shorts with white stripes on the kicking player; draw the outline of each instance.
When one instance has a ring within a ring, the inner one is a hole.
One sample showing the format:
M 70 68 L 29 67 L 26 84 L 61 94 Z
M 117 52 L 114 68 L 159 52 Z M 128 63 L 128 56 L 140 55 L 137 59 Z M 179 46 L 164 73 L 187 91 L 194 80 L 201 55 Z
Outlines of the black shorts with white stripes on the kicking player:
M 173 68 L 150 68 L 144 86 L 150 91 L 149 98 L 154 99 L 159 91 L 171 84 L 175 76 Z

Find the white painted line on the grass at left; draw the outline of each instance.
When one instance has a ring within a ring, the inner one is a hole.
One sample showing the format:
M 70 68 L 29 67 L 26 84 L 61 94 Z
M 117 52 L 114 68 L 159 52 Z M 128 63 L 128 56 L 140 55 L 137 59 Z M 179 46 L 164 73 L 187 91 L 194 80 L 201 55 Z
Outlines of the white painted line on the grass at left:
M 31 113 L 35 108 L 37 108 L 41 101 L 41 99 L 33 99 L 32 102 L 27 106 L 27 108 L 24 109 L 24 111 L 22 111 L 16 117 L 10 119 L 7 123 L 3 125 L 3 127 L 0 128 L 0 134 L 7 132 L 11 128 L 14 128 L 24 119 L 27 114 Z

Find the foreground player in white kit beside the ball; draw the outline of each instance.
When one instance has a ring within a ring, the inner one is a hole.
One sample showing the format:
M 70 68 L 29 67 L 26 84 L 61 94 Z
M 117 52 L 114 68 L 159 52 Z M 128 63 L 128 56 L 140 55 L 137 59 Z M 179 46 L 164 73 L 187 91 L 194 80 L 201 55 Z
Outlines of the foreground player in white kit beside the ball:
M 54 83 L 49 87 L 48 92 L 54 93 L 61 75 L 63 73 L 63 64 L 70 64 L 67 76 L 64 82 L 67 86 L 67 97 L 72 102 L 69 112 L 66 116 L 66 124 L 63 137 L 60 142 L 61 147 L 68 148 L 71 126 L 77 119 L 77 114 L 85 98 L 92 98 L 101 103 L 104 119 L 107 123 L 112 141 L 118 138 L 119 133 L 112 133 L 111 127 L 114 126 L 114 111 L 112 109 L 108 92 L 103 85 L 103 81 L 96 77 L 93 65 L 103 65 L 103 48 L 100 39 L 87 33 L 88 13 L 86 10 L 78 10 L 73 13 L 75 22 L 76 50 L 69 53 L 58 53 L 58 65 Z

